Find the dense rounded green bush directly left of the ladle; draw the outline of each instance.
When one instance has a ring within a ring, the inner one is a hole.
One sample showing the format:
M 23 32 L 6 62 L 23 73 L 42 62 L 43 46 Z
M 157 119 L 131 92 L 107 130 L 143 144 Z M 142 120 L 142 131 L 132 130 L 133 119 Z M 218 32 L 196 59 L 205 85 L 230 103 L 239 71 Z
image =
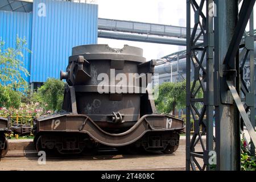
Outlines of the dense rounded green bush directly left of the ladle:
M 48 78 L 34 94 L 34 100 L 46 107 L 47 110 L 61 110 L 64 97 L 64 82 Z

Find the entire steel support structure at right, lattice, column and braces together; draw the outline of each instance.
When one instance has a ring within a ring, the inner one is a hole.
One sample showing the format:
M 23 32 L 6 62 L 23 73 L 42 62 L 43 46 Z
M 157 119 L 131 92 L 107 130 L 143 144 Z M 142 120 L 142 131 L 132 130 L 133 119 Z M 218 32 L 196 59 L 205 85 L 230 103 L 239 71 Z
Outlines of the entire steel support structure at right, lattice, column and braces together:
M 216 6 L 210 0 L 201 0 L 200 4 L 197 2 L 199 1 L 187 0 L 186 168 L 187 170 L 191 168 L 204 170 L 214 167 L 209 165 L 209 152 L 214 150 L 217 152 L 215 169 L 236 170 L 240 169 L 240 119 L 245 123 L 251 141 L 256 143 L 252 13 L 255 1 L 243 0 L 239 14 L 238 1 L 215 0 Z M 212 11 L 213 6 L 214 11 L 217 8 L 217 16 L 214 18 L 214 32 L 213 16 L 209 14 L 212 13 L 210 11 Z M 197 27 L 200 27 L 201 34 L 204 36 L 204 43 L 202 44 L 196 44 L 198 38 L 195 36 L 195 31 L 192 31 L 192 34 L 189 32 L 191 7 L 195 14 L 193 28 L 196 30 Z M 223 18 L 226 18 L 224 22 L 227 22 L 224 25 L 221 24 Z M 250 34 L 245 36 L 245 41 L 241 44 L 249 18 Z M 227 35 L 225 37 L 226 42 L 221 40 L 224 39 L 223 35 L 225 34 Z M 238 54 L 239 48 L 242 48 L 240 56 Z M 195 51 L 201 51 L 201 54 L 195 56 Z M 207 57 L 206 68 L 201 66 L 204 56 Z M 248 58 L 249 64 L 246 64 Z M 243 77 L 245 76 L 243 73 L 245 68 L 250 69 L 250 81 Z M 191 71 L 194 74 L 193 80 Z M 199 82 L 199 86 L 196 86 L 196 82 Z M 197 95 L 199 90 L 203 91 L 201 98 Z M 216 119 L 215 137 L 213 136 L 213 118 Z M 195 125 L 195 133 L 191 138 L 192 121 Z M 203 142 L 203 135 L 206 135 L 206 145 Z M 203 151 L 196 151 L 195 146 L 198 143 Z M 250 151 L 251 154 L 254 154 L 253 144 L 251 144 Z M 201 162 L 200 158 L 203 159 Z

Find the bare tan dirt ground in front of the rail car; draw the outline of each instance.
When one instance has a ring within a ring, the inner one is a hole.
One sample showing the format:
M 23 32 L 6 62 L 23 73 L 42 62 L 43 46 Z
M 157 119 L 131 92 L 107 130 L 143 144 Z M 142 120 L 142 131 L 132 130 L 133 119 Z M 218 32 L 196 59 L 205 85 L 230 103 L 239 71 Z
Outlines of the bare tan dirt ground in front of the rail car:
M 18 151 L 16 151 L 18 152 Z M 22 151 L 21 151 L 22 152 Z M 9 152 L 0 161 L 2 170 L 184 170 L 185 146 L 180 146 L 175 154 L 148 155 L 104 155 L 81 158 L 49 158 L 46 164 L 38 164 L 33 157 L 14 155 Z

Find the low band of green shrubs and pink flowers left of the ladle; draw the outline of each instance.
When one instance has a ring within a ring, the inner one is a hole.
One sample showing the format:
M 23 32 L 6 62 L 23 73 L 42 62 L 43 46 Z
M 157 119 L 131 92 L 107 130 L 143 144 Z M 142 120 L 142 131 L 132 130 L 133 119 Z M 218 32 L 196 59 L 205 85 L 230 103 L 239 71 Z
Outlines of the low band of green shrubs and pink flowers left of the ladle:
M 49 78 L 33 94 L 21 93 L 9 86 L 0 85 L 0 116 L 39 116 L 61 110 L 64 96 L 64 82 Z

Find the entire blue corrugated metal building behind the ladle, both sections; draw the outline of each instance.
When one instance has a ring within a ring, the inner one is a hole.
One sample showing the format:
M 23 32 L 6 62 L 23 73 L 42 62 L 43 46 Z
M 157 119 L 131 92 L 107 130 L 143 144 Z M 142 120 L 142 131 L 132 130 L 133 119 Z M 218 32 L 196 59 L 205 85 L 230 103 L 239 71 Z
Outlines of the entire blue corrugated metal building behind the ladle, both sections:
M 59 78 L 72 47 L 97 43 L 98 5 L 55 0 L 34 0 L 32 6 L 19 3 L 11 11 L 0 9 L 0 39 L 5 47 L 15 47 L 16 36 L 26 38 L 32 53 L 24 51 L 23 62 L 32 88 L 49 77 Z

